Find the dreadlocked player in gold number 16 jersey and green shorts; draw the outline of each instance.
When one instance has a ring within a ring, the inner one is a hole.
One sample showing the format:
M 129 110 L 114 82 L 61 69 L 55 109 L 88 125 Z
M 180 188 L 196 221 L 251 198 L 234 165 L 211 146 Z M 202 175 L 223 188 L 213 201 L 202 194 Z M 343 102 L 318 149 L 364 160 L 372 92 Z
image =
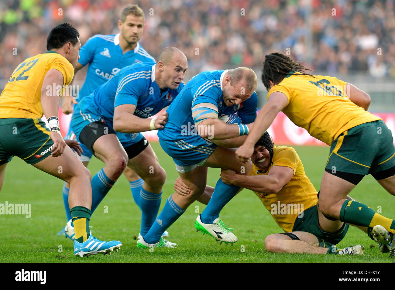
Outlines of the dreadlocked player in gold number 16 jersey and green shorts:
M 320 187 L 319 206 L 331 220 L 369 227 L 380 251 L 395 257 L 395 221 L 346 197 L 365 175 L 371 174 L 395 195 L 395 146 L 391 131 L 367 112 L 370 97 L 335 77 L 308 75 L 307 69 L 281 53 L 265 57 L 262 82 L 269 91 L 237 159 L 246 162 L 254 144 L 282 111 L 311 136 L 331 146 Z

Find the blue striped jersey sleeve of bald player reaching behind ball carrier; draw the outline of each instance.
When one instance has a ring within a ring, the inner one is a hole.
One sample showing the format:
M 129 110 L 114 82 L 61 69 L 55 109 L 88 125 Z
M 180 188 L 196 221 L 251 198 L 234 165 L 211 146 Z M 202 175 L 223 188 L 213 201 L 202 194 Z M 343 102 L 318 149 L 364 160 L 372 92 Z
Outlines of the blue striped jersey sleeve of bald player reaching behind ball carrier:
M 145 79 L 130 78 L 130 74 L 119 76 L 117 92 L 115 94 L 114 108 L 120 105 L 135 105 L 145 89 Z

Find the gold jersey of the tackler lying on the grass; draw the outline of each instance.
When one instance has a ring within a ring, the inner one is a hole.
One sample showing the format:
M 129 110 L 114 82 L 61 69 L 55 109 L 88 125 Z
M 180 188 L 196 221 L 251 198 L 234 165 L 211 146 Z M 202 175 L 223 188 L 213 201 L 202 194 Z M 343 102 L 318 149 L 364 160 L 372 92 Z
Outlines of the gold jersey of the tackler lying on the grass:
M 254 193 L 273 215 L 277 225 L 285 232 L 292 232 L 296 217 L 303 210 L 317 204 L 317 191 L 306 176 L 302 161 L 292 147 L 274 146 L 272 163 L 265 172 L 253 164 L 250 175 L 268 175 L 273 166 L 285 166 L 293 170 L 291 180 L 278 193 Z

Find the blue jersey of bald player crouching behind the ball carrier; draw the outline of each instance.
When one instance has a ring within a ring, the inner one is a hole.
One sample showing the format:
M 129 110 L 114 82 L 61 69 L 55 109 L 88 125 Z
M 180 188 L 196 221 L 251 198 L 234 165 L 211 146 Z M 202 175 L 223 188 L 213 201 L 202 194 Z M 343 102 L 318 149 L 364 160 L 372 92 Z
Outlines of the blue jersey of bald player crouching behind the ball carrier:
M 134 115 L 148 118 L 169 106 L 184 87 L 177 90 L 160 90 L 155 82 L 155 66 L 138 63 L 121 69 L 111 80 L 102 84 L 78 104 L 82 112 L 92 112 L 113 124 L 114 108 L 119 105 L 135 105 Z

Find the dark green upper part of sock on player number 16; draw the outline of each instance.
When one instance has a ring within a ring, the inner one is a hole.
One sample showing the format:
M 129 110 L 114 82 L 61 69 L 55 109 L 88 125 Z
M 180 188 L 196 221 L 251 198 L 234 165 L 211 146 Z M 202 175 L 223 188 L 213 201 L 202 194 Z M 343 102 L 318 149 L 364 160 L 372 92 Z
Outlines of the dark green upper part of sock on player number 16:
M 340 210 L 340 221 L 357 226 L 370 225 L 376 212 L 369 206 L 355 200 L 346 200 Z

